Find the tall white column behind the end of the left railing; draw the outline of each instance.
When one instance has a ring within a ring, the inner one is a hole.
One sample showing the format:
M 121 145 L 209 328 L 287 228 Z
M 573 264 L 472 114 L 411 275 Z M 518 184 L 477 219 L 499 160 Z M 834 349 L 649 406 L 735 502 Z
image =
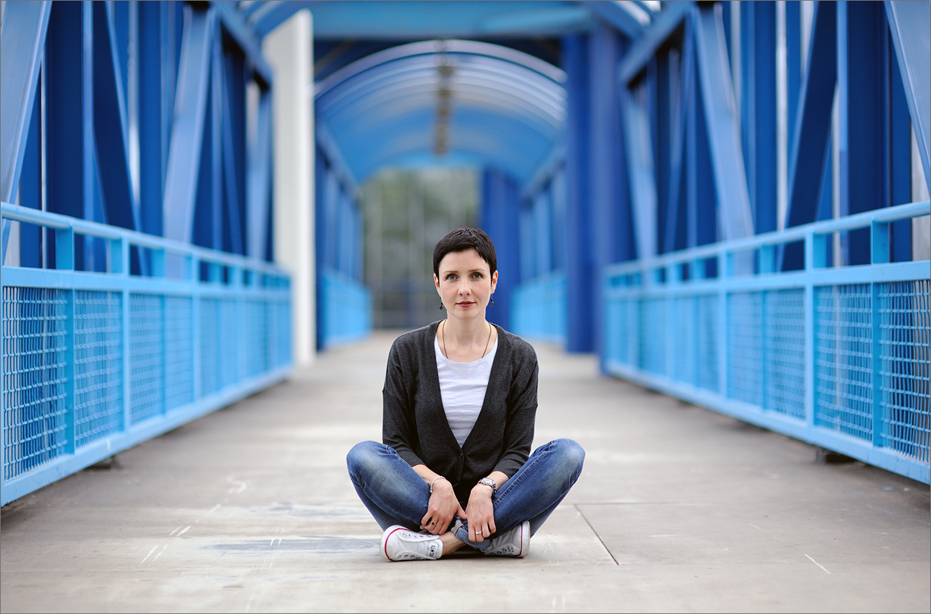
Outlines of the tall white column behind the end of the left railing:
M 275 72 L 275 261 L 291 274 L 292 346 L 296 366 L 317 347 L 314 247 L 314 26 L 309 10 L 265 36 L 263 56 Z

